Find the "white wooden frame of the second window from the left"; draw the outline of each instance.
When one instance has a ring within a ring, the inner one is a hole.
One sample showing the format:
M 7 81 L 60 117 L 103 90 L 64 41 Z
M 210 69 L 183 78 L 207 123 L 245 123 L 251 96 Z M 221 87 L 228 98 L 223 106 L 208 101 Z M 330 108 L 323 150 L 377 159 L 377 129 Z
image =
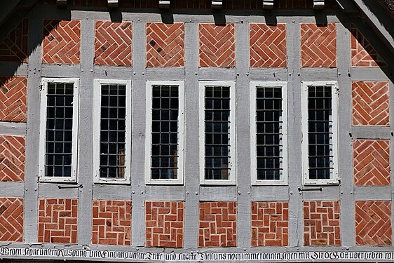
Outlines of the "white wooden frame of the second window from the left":
M 100 177 L 100 123 L 101 123 L 101 86 L 123 84 L 126 87 L 125 111 L 125 177 Z M 93 83 L 93 182 L 98 184 L 130 184 L 131 167 L 131 81 L 118 79 L 95 79 Z

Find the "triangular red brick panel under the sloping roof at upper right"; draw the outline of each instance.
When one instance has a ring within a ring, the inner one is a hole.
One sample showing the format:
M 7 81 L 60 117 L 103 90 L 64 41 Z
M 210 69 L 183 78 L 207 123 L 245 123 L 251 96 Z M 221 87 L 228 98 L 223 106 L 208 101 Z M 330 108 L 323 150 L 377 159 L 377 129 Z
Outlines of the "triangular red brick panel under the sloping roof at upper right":
M 351 66 L 387 67 L 368 39 L 354 25 L 351 26 Z

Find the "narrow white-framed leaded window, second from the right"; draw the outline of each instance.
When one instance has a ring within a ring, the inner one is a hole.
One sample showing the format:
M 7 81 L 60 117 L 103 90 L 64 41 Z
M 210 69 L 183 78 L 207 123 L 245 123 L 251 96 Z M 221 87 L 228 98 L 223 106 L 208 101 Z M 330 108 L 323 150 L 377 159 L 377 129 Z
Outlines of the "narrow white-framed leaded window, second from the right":
M 287 184 L 286 83 L 250 87 L 252 183 Z

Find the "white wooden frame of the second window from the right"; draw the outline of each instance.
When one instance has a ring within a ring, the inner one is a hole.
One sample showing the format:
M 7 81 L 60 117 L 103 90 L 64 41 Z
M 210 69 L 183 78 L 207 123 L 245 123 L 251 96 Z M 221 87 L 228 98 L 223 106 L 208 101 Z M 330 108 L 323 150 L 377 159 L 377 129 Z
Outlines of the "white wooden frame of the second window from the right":
M 257 127 L 256 127 L 256 90 L 257 87 L 281 88 L 282 90 L 282 166 L 280 180 L 257 180 Z M 250 173 L 253 185 L 287 185 L 287 83 L 285 81 L 250 82 Z

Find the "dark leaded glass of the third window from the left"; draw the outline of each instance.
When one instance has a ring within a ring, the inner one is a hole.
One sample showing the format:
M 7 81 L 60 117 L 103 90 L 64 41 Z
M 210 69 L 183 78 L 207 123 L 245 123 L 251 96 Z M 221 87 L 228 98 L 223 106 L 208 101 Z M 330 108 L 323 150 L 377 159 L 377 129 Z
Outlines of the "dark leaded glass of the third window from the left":
M 152 179 L 177 179 L 178 113 L 178 86 L 152 86 Z

